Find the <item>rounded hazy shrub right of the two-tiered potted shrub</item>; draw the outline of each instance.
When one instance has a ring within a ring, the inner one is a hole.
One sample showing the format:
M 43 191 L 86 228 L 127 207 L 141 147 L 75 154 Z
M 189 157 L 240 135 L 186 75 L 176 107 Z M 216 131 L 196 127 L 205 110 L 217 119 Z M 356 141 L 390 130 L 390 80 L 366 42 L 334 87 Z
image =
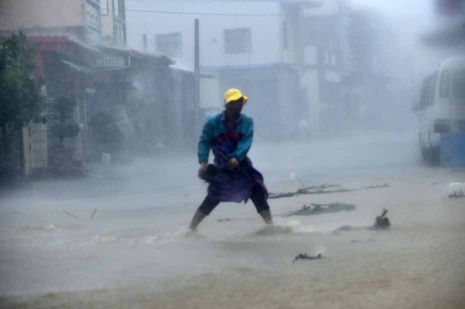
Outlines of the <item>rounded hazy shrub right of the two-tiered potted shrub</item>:
M 90 125 L 97 143 L 104 146 L 102 151 L 114 152 L 120 148 L 123 133 L 110 114 L 99 112 L 92 117 Z

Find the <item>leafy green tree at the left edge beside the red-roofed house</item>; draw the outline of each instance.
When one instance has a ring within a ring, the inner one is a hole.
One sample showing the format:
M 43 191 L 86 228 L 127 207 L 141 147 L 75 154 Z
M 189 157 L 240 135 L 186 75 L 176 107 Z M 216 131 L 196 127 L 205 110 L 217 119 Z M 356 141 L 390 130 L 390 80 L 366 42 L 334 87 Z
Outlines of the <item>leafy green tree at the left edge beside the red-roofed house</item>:
M 9 151 L 7 134 L 18 132 L 20 147 L 23 146 L 22 128 L 31 121 L 47 121 L 43 114 L 46 101 L 41 93 L 42 80 L 34 76 L 34 58 L 37 50 L 20 32 L 0 40 L 0 138 L 3 152 L 2 165 Z M 24 167 L 24 151 L 21 149 L 21 166 Z

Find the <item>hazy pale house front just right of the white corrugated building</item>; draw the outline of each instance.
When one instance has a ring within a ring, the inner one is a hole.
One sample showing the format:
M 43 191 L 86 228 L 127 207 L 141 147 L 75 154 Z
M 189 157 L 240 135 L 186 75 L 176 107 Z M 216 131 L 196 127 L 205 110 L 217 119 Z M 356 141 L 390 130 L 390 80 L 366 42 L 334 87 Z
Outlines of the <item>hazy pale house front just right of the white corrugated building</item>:
M 305 74 L 300 85 L 307 88 L 309 128 L 334 129 L 348 104 L 341 80 L 353 71 L 351 3 L 325 0 L 321 7 L 302 12 L 302 62 Z M 298 55 L 298 54 L 297 54 Z

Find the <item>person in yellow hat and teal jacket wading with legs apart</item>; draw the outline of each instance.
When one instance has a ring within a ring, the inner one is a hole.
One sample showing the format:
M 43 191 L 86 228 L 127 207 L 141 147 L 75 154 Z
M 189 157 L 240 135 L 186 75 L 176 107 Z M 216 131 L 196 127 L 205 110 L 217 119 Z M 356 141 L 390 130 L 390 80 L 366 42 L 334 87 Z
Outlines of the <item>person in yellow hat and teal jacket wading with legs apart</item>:
M 273 223 L 263 176 L 247 157 L 253 139 L 253 120 L 241 113 L 247 100 L 238 89 L 227 90 L 224 111 L 209 116 L 203 126 L 198 147 L 199 177 L 207 170 L 210 149 L 218 172 L 211 177 L 207 196 L 192 217 L 192 230 L 221 201 L 247 202 L 249 198 L 263 220 Z

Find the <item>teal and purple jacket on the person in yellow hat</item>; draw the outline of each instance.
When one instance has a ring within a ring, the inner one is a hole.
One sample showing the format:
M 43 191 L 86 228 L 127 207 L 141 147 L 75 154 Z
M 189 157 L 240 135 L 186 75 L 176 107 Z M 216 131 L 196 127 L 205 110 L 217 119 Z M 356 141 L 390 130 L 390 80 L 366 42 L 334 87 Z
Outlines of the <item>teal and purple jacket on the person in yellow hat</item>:
M 241 162 L 252 145 L 253 119 L 240 114 L 234 122 L 229 122 L 224 112 L 207 118 L 199 140 L 199 163 L 208 162 L 211 146 L 220 150 L 228 158 L 235 157 Z M 225 159 L 215 154 L 215 163 L 225 165 Z

